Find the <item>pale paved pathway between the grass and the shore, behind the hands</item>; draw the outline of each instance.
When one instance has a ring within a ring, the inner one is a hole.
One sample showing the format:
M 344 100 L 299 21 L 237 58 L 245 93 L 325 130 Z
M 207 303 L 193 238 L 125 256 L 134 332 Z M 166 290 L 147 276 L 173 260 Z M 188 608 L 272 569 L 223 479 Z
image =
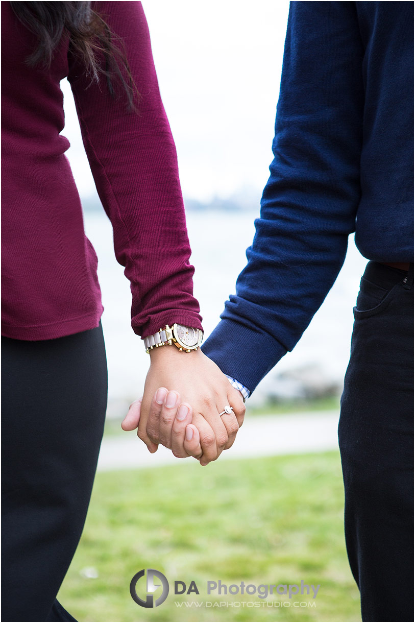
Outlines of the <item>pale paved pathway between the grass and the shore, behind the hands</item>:
M 318 411 L 284 416 L 246 417 L 234 445 L 219 460 L 300 454 L 338 449 L 338 411 Z M 132 432 L 103 440 L 98 470 L 178 464 L 171 450 L 159 446 L 150 454 Z

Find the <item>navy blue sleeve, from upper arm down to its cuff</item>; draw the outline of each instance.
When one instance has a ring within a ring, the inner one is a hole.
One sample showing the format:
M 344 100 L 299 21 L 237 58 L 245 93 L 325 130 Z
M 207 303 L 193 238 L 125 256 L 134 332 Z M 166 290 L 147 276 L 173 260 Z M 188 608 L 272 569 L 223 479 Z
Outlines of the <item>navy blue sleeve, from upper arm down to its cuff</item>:
M 203 346 L 250 391 L 300 339 L 355 231 L 363 52 L 355 2 L 290 2 L 260 218 L 236 295 Z

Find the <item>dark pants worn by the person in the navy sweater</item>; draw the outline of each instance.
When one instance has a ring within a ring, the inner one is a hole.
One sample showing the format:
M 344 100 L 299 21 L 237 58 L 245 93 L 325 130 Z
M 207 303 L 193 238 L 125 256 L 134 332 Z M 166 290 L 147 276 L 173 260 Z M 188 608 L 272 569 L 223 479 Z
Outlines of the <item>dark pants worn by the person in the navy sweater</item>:
M 363 621 L 413 621 L 413 269 L 369 262 L 338 428 Z

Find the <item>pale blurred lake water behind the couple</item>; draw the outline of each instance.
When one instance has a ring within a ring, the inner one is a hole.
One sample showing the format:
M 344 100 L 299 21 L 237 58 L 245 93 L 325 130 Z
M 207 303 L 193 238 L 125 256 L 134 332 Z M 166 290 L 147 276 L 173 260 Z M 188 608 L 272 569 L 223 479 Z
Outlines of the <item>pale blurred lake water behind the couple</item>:
M 206 336 L 219 321 L 224 301 L 235 292 L 234 284 L 246 264 L 245 252 L 252 242 L 257 216 L 256 212 L 216 210 L 187 214 L 193 249 L 191 262 L 196 269 L 194 294 L 201 305 Z M 105 308 L 102 325 L 107 347 L 110 412 L 122 412 L 141 396 L 150 357 L 131 329 L 130 283 L 115 259 L 112 226 L 105 212 L 85 212 L 85 231 L 98 255 L 98 277 Z M 262 401 L 275 383 L 280 383 L 281 373 L 290 376 L 304 368 L 314 369 L 317 377 L 325 382 L 341 384 L 350 354 L 352 309 L 366 262 L 352 236 L 343 269 L 322 307 L 292 353 L 287 353 L 259 384 L 251 402 Z

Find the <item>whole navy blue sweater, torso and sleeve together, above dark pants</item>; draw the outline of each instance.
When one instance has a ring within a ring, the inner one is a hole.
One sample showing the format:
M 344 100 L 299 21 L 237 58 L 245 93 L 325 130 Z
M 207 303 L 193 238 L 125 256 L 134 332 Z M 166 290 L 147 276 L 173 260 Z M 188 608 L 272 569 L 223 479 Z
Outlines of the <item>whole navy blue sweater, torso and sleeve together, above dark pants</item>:
M 413 2 L 291 2 L 272 145 L 247 265 L 203 351 L 253 391 L 293 349 L 348 235 L 413 261 Z

